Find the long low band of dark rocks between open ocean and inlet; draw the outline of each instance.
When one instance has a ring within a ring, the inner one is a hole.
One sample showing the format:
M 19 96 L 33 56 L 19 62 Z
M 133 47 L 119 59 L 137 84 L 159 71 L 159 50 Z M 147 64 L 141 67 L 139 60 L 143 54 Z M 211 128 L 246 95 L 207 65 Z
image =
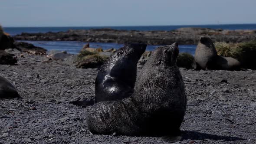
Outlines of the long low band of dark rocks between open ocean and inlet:
M 115 29 L 69 30 L 66 32 L 21 33 L 16 40 L 82 41 L 97 43 L 147 43 L 148 45 L 197 44 L 202 35 L 213 42 L 245 42 L 256 38 L 256 30 L 223 30 L 208 28 L 180 28 L 172 31 L 137 31 Z

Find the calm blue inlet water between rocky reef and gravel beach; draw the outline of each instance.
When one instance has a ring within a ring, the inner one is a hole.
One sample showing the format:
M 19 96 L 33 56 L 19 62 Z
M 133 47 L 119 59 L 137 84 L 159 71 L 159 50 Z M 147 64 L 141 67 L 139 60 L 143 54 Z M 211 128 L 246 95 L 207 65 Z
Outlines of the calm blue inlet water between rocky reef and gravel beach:
M 57 51 L 67 51 L 71 54 L 78 54 L 80 50 L 86 43 L 76 42 L 76 41 L 23 41 L 26 43 L 32 43 L 35 46 L 40 46 L 48 51 L 57 50 Z M 122 44 L 117 43 L 90 43 L 90 47 L 92 48 L 102 48 L 102 49 L 110 49 L 110 48 L 121 48 Z M 148 45 L 146 51 L 152 51 L 158 46 Z M 194 55 L 196 46 L 195 45 L 180 45 L 180 52 L 188 52 Z

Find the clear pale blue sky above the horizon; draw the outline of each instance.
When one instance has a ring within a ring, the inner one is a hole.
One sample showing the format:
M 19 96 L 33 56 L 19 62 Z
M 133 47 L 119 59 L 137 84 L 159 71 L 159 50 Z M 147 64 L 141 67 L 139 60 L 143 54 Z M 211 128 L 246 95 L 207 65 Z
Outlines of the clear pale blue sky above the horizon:
M 256 0 L 1 0 L 3 26 L 256 23 Z

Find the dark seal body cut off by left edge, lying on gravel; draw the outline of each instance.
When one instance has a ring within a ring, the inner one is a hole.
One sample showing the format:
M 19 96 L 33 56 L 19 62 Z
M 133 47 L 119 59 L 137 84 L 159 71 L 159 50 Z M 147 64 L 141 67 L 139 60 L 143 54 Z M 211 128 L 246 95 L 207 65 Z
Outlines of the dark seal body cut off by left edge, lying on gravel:
M 0 76 L 0 98 L 20 98 L 16 88 L 5 78 Z

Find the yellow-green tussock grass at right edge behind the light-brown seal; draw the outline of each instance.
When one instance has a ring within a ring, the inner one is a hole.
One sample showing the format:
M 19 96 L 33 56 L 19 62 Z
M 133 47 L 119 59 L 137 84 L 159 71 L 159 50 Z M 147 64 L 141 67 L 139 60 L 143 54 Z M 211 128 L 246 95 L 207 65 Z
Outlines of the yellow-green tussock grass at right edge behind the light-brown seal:
M 256 69 L 256 39 L 243 43 L 217 42 L 214 45 L 218 55 L 237 59 L 246 69 Z

